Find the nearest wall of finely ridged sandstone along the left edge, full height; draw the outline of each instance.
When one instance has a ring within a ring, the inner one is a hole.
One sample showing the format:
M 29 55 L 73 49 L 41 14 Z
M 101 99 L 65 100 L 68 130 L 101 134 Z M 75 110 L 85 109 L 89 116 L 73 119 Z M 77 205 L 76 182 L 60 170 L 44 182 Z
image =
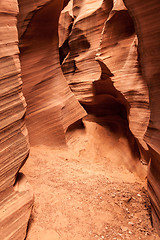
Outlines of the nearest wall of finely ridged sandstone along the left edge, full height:
M 24 239 L 33 202 L 33 193 L 26 180 L 17 180 L 15 184 L 18 171 L 29 154 L 28 132 L 24 123 L 26 102 L 22 94 L 18 56 L 17 14 L 16 0 L 0 1 L 0 239 L 2 240 Z

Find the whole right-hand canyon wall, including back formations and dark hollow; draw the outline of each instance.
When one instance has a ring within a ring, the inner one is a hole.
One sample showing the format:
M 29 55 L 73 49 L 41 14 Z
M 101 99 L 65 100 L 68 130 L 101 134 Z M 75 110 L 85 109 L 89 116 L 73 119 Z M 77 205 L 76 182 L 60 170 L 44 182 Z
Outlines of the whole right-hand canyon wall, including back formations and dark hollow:
M 59 27 L 64 75 L 88 113 L 123 126 L 132 150 L 151 157 L 148 189 L 159 229 L 160 3 L 73 0 L 70 7 Z

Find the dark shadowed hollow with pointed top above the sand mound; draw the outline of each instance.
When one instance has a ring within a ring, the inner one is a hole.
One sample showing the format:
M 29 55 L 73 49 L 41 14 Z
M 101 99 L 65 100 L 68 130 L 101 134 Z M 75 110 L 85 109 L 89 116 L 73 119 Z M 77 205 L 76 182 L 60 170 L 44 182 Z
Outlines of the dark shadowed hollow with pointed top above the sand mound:
M 135 159 L 140 159 L 138 140 L 129 128 L 130 105 L 123 94 L 114 87 L 111 80 L 113 74 L 103 62 L 97 61 L 101 67 L 101 77 L 93 82 L 93 99 L 90 102 L 80 101 L 80 103 L 90 115 L 89 121 L 95 121 L 109 128 L 119 137 L 126 137 L 133 156 Z

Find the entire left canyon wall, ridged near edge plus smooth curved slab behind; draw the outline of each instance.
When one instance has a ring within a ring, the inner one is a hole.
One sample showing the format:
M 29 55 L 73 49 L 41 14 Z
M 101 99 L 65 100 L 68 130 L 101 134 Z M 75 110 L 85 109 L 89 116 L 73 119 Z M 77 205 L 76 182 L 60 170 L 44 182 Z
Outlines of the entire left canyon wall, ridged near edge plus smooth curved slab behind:
M 25 238 L 33 205 L 18 173 L 29 155 L 25 123 L 32 145 L 53 146 L 65 143 L 67 127 L 86 114 L 59 64 L 58 19 L 67 3 L 0 2 L 0 239 Z

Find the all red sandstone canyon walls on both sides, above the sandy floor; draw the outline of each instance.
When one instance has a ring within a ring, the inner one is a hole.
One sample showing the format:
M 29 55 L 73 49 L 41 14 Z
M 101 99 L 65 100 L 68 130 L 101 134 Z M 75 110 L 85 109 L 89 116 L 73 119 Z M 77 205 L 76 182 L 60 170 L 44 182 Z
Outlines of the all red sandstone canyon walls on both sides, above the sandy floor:
M 71 0 L 58 41 L 67 3 L 0 2 L 0 239 L 26 234 L 33 193 L 18 172 L 29 154 L 27 128 L 31 145 L 65 144 L 83 107 L 99 123 L 120 125 L 136 158 L 151 158 L 160 229 L 160 2 Z

